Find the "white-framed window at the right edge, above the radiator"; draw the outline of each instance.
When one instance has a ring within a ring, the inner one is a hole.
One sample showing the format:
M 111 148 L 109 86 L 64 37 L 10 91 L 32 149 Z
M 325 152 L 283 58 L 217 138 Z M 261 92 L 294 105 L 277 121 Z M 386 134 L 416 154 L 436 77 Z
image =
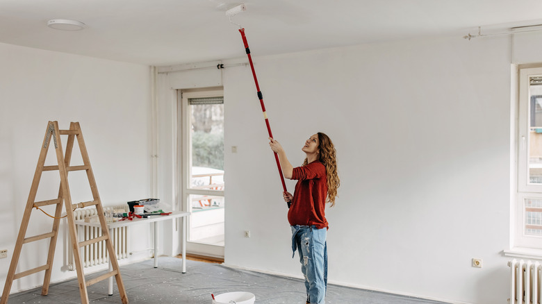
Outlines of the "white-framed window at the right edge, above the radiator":
M 514 246 L 542 249 L 542 67 L 520 67 Z

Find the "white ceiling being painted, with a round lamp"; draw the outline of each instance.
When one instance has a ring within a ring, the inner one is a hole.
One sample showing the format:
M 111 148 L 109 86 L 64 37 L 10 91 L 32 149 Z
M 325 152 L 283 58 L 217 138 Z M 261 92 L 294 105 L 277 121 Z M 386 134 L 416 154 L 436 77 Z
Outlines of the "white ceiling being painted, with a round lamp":
M 258 56 L 542 23 L 541 0 L 0 0 L 0 42 L 156 66 L 238 58 L 225 11 L 240 3 L 232 21 Z

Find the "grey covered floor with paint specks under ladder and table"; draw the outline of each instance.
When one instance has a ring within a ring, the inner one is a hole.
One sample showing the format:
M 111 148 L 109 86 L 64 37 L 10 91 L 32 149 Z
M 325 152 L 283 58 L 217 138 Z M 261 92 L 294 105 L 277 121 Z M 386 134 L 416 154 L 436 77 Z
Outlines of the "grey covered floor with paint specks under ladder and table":
M 252 292 L 256 295 L 255 304 L 305 304 L 302 280 L 231 269 L 220 264 L 188 260 L 186 273 L 181 273 L 180 259 L 160 257 L 157 269 L 154 269 L 152 260 L 122 266 L 120 269 L 130 303 L 211 304 L 211 293 Z M 99 274 L 85 278 L 89 280 Z M 107 281 L 88 287 L 90 303 L 122 303 L 116 284 L 114 286 L 113 296 L 107 295 Z M 77 280 L 69 280 L 51 285 L 48 296 L 42 296 L 41 288 L 38 288 L 12 294 L 8 303 L 67 304 L 81 303 L 81 298 Z M 336 285 L 328 286 L 326 303 L 445 304 Z

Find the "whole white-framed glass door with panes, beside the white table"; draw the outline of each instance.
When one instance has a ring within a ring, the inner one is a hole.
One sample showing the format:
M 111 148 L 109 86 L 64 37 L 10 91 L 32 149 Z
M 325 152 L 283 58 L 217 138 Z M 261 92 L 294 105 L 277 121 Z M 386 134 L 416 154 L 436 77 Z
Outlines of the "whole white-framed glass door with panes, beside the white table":
M 224 255 L 224 96 L 222 90 L 181 93 L 183 210 L 187 251 Z

